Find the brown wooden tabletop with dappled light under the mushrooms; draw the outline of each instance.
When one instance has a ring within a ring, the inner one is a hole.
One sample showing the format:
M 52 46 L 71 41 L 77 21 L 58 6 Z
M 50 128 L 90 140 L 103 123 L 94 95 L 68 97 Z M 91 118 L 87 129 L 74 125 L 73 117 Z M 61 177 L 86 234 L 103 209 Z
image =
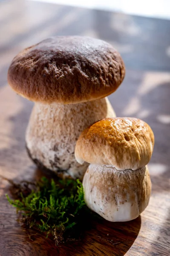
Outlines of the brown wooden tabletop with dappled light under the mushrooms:
M 155 134 L 150 161 L 152 196 L 136 220 L 95 222 L 81 241 L 55 247 L 38 233 L 31 241 L 6 200 L 0 180 L 1 256 L 169 256 L 170 255 L 170 20 L 135 17 L 23 0 L 0 1 L 0 174 L 14 180 L 42 173 L 25 150 L 32 102 L 7 84 L 7 70 L 21 49 L 52 35 L 89 35 L 115 46 L 126 78 L 109 99 L 117 116 L 148 122 Z

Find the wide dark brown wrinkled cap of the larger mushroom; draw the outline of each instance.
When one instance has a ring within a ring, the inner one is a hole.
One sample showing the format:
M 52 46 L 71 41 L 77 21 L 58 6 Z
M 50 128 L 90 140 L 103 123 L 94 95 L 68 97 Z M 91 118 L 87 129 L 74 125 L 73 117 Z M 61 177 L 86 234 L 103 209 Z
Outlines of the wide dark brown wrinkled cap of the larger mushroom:
M 9 67 L 8 81 L 29 100 L 69 104 L 113 93 L 124 74 L 121 56 L 110 44 L 59 36 L 20 52 Z

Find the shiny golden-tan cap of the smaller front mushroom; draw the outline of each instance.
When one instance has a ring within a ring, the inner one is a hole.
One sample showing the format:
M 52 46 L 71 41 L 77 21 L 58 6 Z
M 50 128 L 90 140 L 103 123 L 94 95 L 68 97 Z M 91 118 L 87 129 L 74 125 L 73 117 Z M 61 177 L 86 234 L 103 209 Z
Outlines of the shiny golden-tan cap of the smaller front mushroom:
M 144 121 L 131 117 L 106 118 L 81 133 L 75 158 L 79 163 L 136 170 L 150 161 L 153 145 L 153 131 Z

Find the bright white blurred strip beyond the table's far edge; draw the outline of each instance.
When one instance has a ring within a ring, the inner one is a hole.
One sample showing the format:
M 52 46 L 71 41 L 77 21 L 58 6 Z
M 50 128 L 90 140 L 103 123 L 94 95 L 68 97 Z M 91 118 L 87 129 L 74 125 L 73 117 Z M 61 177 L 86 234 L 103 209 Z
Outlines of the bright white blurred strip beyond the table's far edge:
M 32 0 L 170 19 L 170 0 Z

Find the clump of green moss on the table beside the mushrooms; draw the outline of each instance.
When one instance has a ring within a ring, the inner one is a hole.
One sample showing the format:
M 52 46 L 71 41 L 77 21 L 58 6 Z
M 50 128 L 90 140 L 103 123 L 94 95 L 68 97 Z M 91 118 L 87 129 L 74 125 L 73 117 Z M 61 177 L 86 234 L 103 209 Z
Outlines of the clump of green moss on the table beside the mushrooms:
M 46 236 L 54 236 L 56 245 L 78 238 L 85 207 L 79 180 L 59 179 L 55 183 L 53 179 L 49 181 L 43 177 L 37 183 L 12 183 L 12 186 L 17 191 L 17 199 L 6 196 L 20 213 L 24 227 L 35 227 Z

